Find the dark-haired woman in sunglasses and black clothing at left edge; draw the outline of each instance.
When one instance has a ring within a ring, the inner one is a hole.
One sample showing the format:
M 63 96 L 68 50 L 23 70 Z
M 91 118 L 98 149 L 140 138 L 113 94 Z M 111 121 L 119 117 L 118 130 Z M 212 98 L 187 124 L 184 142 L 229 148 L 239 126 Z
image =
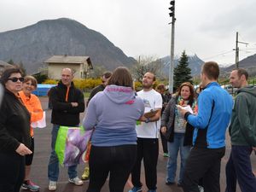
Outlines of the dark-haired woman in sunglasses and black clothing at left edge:
M 18 92 L 24 78 L 20 68 L 7 68 L 1 77 L 4 87 L 0 108 L 0 191 L 19 192 L 25 174 L 25 155 L 32 154 L 30 114 Z

